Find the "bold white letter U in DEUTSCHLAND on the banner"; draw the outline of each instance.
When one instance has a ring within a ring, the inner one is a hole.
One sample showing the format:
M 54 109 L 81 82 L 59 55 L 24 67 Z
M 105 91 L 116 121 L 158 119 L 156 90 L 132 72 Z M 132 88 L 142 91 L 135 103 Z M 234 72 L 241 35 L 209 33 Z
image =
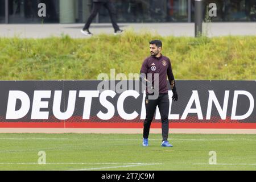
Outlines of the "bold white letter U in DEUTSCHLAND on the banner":
M 53 115 L 57 119 L 68 119 L 72 117 L 74 110 L 75 110 L 75 104 L 76 104 L 76 90 L 69 90 L 68 94 L 68 104 L 67 109 L 64 108 L 64 112 L 60 111 L 60 104 L 61 104 L 61 90 L 56 90 L 53 97 L 53 106 L 52 106 L 52 112 Z

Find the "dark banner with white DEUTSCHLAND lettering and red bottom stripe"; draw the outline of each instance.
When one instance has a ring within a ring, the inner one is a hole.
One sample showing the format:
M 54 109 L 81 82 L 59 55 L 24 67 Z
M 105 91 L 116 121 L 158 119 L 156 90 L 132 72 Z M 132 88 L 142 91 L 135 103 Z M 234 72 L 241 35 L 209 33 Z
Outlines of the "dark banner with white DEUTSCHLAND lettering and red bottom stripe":
M 142 129 L 145 93 L 139 81 L 0 81 L 0 129 Z M 256 129 L 256 81 L 176 81 L 171 129 Z M 161 128 L 156 109 L 153 129 Z

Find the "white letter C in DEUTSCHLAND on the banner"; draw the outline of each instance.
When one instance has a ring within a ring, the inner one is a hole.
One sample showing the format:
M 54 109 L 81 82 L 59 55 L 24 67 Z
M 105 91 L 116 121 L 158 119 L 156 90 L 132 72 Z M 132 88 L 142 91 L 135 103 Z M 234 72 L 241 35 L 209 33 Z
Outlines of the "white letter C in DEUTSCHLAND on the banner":
M 139 114 L 136 111 L 134 111 L 131 114 L 127 114 L 125 112 L 125 110 L 123 109 L 123 102 L 125 101 L 126 97 L 128 97 L 128 96 L 133 96 L 134 98 L 138 98 L 139 93 L 135 90 L 126 90 L 125 92 L 123 92 L 119 96 L 118 101 L 117 101 L 117 111 L 121 118 L 131 120 L 131 119 L 137 118 Z

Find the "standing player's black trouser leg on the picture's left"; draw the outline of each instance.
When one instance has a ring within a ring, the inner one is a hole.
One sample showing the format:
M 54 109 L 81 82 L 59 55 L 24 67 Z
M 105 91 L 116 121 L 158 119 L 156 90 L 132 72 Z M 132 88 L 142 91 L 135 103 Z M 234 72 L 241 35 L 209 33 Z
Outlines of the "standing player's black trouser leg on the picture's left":
M 156 105 L 158 100 L 148 100 L 148 96 L 145 98 L 146 106 L 146 119 L 144 120 L 143 138 L 148 138 L 150 125 L 155 114 Z

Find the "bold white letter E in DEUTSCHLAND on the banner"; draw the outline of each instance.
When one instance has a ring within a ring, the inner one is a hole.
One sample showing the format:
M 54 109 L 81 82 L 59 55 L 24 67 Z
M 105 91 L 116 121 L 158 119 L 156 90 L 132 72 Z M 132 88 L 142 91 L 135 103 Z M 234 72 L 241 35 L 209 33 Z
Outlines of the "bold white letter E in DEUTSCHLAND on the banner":
M 48 111 L 40 111 L 41 108 L 48 108 L 48 101 L 42 98 L 50 98 L 51 90 L 35 90 L 32 105 L 31 119 L 48 119 Z

